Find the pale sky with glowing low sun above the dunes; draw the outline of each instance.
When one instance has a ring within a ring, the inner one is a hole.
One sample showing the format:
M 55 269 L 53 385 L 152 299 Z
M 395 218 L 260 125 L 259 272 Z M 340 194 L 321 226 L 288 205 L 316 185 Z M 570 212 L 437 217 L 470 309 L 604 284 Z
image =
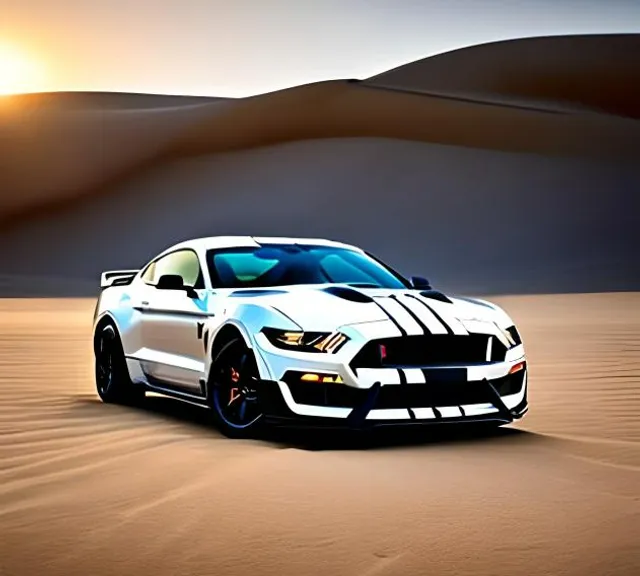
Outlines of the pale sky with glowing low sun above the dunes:
M 640 0 L 0 0 L 0 92 L 240 97 L 496 40 L 640 32 Z

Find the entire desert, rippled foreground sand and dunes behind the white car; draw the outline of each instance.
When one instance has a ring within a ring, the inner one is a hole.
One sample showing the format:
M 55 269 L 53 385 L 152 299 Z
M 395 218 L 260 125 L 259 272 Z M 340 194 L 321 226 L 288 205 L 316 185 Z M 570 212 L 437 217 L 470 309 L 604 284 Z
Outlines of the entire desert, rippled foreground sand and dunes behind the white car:
M 0 575 L 640 574 L 638 53 L 542 38 L 252 98 L 2 100 Z M 530 413 L 231 441 L 173 400 L 101 404 L 99 273 L 218 234 L 493 295 Z

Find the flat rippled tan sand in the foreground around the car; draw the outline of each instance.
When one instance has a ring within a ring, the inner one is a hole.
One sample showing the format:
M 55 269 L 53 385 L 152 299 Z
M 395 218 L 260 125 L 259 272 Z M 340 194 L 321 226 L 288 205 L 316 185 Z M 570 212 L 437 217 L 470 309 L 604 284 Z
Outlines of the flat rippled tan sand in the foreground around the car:
M 640 294 L 499 301 L 532 370 L 512 433 L 309 451 L 100 404 L 93 301 L 1 300 L 0 573 L 638 574 Z

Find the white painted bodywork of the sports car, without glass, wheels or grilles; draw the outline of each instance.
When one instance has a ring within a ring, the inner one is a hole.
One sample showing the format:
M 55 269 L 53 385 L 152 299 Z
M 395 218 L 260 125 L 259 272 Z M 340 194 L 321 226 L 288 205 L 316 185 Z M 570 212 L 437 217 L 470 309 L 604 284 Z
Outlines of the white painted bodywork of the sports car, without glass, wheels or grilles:
M 460 368 L 446 363 L 422 367 L 362 367 L 352 369 L 350 362 L 372 340 L 405 336 L 469 335 L 487 336 L 487 357 L 464 366 L 469 385 L 480 385 L 509 375 L 525 362 L 522 343 L 510 340 L 508 328 L 514 322 L 498 306 L 481 300 L 450 298 L 450 302 L 426 298 L 420 291 L 357 288 L 370 302 L 353 302 L 324 292 L 331 285 L 278 286 L 273 289 L 217 289 L 207 273 L 208 250 L 235 247 L 260 247 L 261 244 L 306 244 L 360 248 L 320 239 L 213 237 L 182 242 L 155 259 L 179 249 L 193 250 L 203 270 L 204 288 L 191 296 L 185 291 L 160 290 L 141 279 L 141 271 L 113 271 L 101 277 L 103 291 L 98 301 L 94 328 L 105 319 L 114 322 L 120 334 L 129 374 L 135 384 L 148 389 L 179 391 L 185 399 L 202 399 L 212 362 L 212 346 L 220 330 L 232 325 L 242 334 L 256 356 L 260 378 L 277 383 L 292 414 L 344 420 L 352 412 L 341 406 L 318 406 L 297 402 L 285 373 L 300 371 L 339 375 L 344 386 L 370 389 L 381 386 L 429 386 L 425 371 Z M 155 260 L 154 259 L 154 260 Z M 118 279 L 131 277 L 127 285 Z M 113 283 L 113 285 L 112 285 Z M 335 286 L 335 285 L 334 285 Z M 348 341 L 334 354 L 299 352 L 276 347 L 262 332 L 265 327 L 285 331 L 340 331 Z M 492 337 L 492 338 L 489 338 Z M 491 361 L 491 346 L 507 348 L 501 361 Z M 206 344 L 206 345 L 205 345 Z M 309 384 L 313 386 L 313 384 Z M 527 378 L 523 374 L 521 390 L 502 396 L 509 410 L 526 404 Z M 434 409 L 435 408 L 435 409 Z M 526 407 L 525 407 L 526 410 Z M 499 409 L 490 402 L 435 407 L 374 408 L 367 420 L 447 420 L 491 415 Z

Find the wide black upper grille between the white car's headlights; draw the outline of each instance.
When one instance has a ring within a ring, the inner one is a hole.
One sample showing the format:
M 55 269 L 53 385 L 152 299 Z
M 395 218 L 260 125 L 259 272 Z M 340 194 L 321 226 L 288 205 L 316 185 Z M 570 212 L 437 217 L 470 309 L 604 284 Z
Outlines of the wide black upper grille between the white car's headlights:
M 492 338 L 491 361 L 505 359 L 506 347 L 485 334 L 451 336 L 429 334 L 372 340 L 351 361 L 351 368 L 428 367 L 447 364 L 477 364 L 487 361 L 487 343 Z

